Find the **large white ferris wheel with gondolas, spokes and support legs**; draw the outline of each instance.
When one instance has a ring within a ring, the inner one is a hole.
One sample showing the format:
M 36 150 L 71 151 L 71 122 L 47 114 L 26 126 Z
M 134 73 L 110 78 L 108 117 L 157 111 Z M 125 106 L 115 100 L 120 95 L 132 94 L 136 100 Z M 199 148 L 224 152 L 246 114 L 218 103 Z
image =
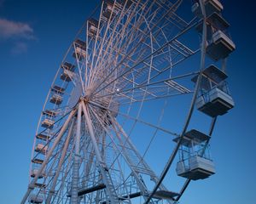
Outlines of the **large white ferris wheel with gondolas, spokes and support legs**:
M 21 203 L 177 203 L 214 174 L 209 141 L 234 106 L 222 10 L 102 1 L 51 84 Z

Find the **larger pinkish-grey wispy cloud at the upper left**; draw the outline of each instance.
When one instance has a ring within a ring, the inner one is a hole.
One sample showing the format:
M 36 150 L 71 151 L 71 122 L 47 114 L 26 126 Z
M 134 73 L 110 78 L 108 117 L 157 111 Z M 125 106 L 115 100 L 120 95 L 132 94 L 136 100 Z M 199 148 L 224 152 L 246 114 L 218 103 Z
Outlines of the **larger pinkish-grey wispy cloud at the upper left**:
M 0 39 L 34 39 L 33 29 L 26 23 L 0 19 Z

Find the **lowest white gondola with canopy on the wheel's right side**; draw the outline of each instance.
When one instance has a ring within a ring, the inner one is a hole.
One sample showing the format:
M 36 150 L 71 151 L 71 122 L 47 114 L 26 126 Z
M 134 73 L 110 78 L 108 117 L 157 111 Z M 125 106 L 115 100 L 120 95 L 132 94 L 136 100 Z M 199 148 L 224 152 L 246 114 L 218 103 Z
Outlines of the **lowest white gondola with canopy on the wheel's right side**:
M 178 142 L 179 137 L 173 139 Z M 192 129 L 185 133 L 181 141 L 180 149 L 183 155 L 181 160 L 177 162 L 176 173 L 183 178 L 192 180 L 208 178 L 215 173 L 212 160 L 206 156 L 206 142 L 210 136 Z M 201 147 L 202 146 L 202 147 Z M 202 153 L 202 151 L 204 151 Z M 186 156 L 184 156 L 186 155 Z

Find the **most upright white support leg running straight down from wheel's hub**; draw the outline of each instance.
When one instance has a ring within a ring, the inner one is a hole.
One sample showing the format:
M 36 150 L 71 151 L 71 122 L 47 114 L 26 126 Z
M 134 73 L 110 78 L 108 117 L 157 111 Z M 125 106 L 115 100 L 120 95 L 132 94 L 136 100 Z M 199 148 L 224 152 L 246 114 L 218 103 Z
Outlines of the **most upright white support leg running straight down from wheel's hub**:
M 77 115 L 77 130 L 75 139 L 75 154 L 73 160 L 73 175 L 71 184 L 71 204 L 78 204 L 79 201 L 79 157 L 80 157 L 80 139 L 81 139 L 81 114 L 82 106 L 79 104 Z

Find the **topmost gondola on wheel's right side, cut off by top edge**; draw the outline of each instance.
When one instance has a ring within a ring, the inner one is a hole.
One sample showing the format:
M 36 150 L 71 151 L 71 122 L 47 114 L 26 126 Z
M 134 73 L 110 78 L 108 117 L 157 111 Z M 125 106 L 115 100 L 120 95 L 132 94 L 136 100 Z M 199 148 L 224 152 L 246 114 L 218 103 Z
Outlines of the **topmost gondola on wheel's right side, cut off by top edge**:
M 204 3 L 207 16 L 211 15 L 214 12 L 219 13 L 223 10 L 223 5 L 218 0 L 204 0 Z M 192 5 L 191 10 L 195 15 L 202 17 L 199 1 L 195 1 L 195 3 Z

